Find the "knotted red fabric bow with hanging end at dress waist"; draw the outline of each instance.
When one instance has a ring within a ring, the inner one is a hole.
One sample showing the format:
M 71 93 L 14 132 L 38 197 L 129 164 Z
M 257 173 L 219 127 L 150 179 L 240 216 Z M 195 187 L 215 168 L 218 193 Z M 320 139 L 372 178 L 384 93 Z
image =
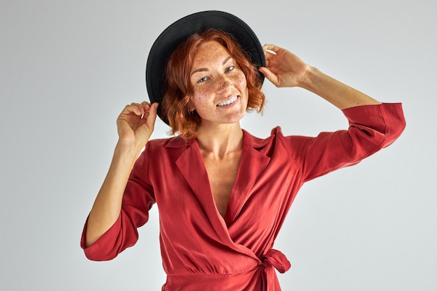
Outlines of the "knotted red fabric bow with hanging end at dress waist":
M 279 291 L 275 290 L 275 275 L 274 269 L 279 273 L 285 273 L 290 269 L 291 264 L 287 260 L 286 255 L 273 248 L 267 251 L 262 257 L 262 291 Z

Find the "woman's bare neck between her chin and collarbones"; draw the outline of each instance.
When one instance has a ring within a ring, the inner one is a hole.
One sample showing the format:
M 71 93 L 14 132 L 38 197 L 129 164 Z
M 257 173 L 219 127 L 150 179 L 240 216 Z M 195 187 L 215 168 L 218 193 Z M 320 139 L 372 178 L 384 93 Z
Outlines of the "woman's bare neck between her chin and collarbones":
M 223 158 L 227 154 L 241 151 L 243 130 L 236 124 L 221 124 L 214 128 L 200 127 L 197 136 L 200 151 L 203 154 Z

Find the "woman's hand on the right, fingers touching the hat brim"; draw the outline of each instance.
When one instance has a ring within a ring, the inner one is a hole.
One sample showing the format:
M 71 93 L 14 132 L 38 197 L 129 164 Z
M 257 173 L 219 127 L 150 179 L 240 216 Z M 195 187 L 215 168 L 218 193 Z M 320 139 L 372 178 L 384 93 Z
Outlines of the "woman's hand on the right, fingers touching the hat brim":
M 304 82 L 311 68 L 295 54 L 276 45 L 263 45 L 266 67 L 259 70 L 276 87 L 296 87 Z

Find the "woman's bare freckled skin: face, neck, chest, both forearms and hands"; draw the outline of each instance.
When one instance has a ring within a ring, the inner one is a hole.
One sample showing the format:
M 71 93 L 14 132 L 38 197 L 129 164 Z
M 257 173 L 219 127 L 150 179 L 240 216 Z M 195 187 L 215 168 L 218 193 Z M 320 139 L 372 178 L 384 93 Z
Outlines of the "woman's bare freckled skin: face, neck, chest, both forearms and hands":
M 309 66 L 288 50 L 276 45 L 263 48 L 267 67 L 259 70 L 276 87 L 302 87 L 341 110 L 379 104 L 378 100 Z M 246 112 L 246 82 L 241 78 L 238 64 L 216 42 L 199 47 L 191 72 L 194 95 L 190 110 L 196 110 L 202 119 L 196 139 L 218 214 L 224 217 L 242 157 L 243 133 L 239 121 Z M 225 101 L 230 104 L 219 106 L 227 104 Z M 119 115 L 119 141 L 89 214 L 86 246 L 94 244 L 117 221 L 133 164 L 154 130 L 156 108 L 156 103 L 132 103 Z

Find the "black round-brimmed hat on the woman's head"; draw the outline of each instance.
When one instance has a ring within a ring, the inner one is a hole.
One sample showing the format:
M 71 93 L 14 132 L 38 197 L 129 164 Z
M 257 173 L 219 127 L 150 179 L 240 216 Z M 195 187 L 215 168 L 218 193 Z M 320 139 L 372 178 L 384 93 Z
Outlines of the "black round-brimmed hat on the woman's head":
M 211 10 L 194 13 L 177 20 L 170 27 L 167 27 L 151 46 L 146 66 L 147 93 L 151 103 L 161 103 L 163 99 L 164 70 L 172 52 L 188 36 L 193 33 L 201 33 L 207 29 L 221 29 L 230 33 L 239 42 L 243 50 L 249 54 L 255 66 L 265 66 L 262 45 L 245 22 L 235 15 L 222 11 Z M 264 75 L 259 73 L 259 77 L 263 82 Z M 163 118 L 161 110 L 158 110 L 158 116 L 168 124 L 168 120 Z

